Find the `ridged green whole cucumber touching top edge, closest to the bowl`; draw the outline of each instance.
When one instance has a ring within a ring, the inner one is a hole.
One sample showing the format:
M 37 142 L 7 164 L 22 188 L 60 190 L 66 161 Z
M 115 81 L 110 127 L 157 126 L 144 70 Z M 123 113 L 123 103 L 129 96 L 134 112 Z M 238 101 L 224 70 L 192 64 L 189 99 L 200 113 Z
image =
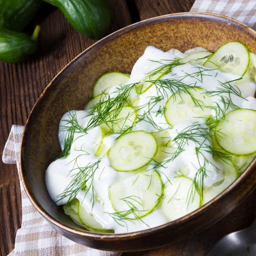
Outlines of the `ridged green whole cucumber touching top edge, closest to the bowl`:
M 101 39 L 111 26 L 112 12 L 108 0 L 44 0 L 63 12 L 81 35 Z

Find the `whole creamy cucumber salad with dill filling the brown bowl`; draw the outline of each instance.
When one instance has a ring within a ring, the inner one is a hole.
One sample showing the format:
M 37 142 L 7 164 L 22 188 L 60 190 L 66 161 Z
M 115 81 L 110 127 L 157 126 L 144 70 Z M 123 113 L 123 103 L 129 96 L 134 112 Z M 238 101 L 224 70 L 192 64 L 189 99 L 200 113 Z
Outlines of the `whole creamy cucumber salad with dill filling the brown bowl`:
M 255 79 L 256 55 L 237 41 L 214 53 L 148 46 L 131 75 L 102 75 L 84 110 L 62 116 L 49 195 L 77 225 L 101 233 L 193 212 L 256 154 Z

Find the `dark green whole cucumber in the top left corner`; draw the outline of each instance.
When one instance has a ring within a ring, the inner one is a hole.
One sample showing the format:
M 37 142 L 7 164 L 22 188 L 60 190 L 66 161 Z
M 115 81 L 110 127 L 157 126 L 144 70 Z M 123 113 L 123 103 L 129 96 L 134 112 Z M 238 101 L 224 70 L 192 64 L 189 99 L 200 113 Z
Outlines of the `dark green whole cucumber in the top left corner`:
M 0 28 L 21 32 L 42 3 L 41 0 L 0 0 Z

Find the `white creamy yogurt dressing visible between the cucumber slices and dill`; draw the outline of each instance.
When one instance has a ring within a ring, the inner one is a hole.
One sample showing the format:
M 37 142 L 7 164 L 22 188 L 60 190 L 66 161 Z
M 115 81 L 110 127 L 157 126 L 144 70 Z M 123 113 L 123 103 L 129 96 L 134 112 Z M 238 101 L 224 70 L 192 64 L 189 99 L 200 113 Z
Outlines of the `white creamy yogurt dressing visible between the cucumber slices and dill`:
M 136 83 L 140 81 L 141 79 L 143 79 L 146 73 L 150 72 L 151 70 L 154 70 L 155 68 L 161 65 L 160 63 L 154 61 L 161 61 L 161 63 L 170 63 L 171 61 L 166 60 L 174 60 L 175 58 L 180 58 L 180 54 L 178 54 L 177 52 L 176 54 L 177 55 L 175 55 L 175 51 L 163 52 L 160 49 L 157 49 L 152 46 L 147 47 L 145 49 L 144 54 L 138 59 L 138 61 L 134 65 L 133 70 L 131 72 L 131 77 L 127 81 L 127 84 Z M 210 68 L 203 67 L 200 65 L 183 64 L 172 68 L 172 71 L 163 76 L 161 79 L 180 79 L 180 77 L 185 76 L 186 73 L 191 74 L 198 71 L 198 67 L 201 67 L 202 70 L 207 70 L 204 71 L 203 80 L 199 81 L 200 79 L 198 80 L 198 77 L 187 76 L 183 79 L 184 83 L 196 84 L 197 86 L 201 86 L 201 88 L 203 88 L 204 90 L 209 91 L 216 90 L 216 88 L 220 88 L 220 82 L 225 83 L 226 81 L 232 81 L 239 78 L 239 76 L 237 75 L 223 73 L 219 70 L 211 70 Z M 234 82 L 230 82 L 230 84 L 234 84 Z M 232 95 L 233 103 L 238 105 L 240 108 L 250 108 L 256 110 L 256 99 L 253 97 L 256 88 L 253 81 L 251 81 L 250 78 L 245 77 L 240 81 L 236 81 L 236 86 L 239 87 L 242 96 L 244 96 L 244 98 L 246 99 L 242 99 L 241 97 Z M 110 92 L 113 92 L 115 90 L 116 86 L 114 86 Z M 229 96 L 227 93 L 222 93 L 221 95 L 227 97 Z M 151 88 L 149 88 L 145 93 L 138 96 L 138 105 L 145 105 L 145 108 L 147 108 L 147 103 L 152 96 L 158 96 L 157 89 L 154 85 Z M 159 125 L 162 129 L 167 129 L 169 137 L 171 139 L 174 138 L 179 131 L 182 131 L 183 129 L 185 129 L 189 125 L 192 125 L 195 122 L 200 123 L 202 127 L 206 127 L 206 125 L 204 124 L 204 120 L 198 118 L 193 119 L 191 121 L 179 123 L 178 125 L 175 125 L 173 128 L 171 128 L 167 124 L 164 115 L 159 114 L 156 116 L 156 111 L 159 108 L 165 106 L 166 101 L 170 96 L 171 94 L 169 93 L 167 98 L 165 97 L 162 101 L 157 102 L 156 105 L 151 109 L 150 113 L 152 118 L 154 119 L 154 122 L 157 125 Z M 113 93 L 111 97 L 113 97 Z M 213 105 L 221 105 L 221 96 L 212 96 L 212 102 Z M 232 109 L 230 109 L 230 111 L 231 110 Z M 137 114 L 142 115 L 143 111 L 145 111 L 145 109 L 141 109 L 140 111 L 138 111 Z M 87 123 L 91 118 L 90 116 L 86 117 L 88 113 L 87 111 L 70 111 L 70 113 L 75 114 L 77 116 L 78 123 L 79 125 L 81 125 L 82 128 L 86 127 Z M 69 125 L 64 120 L 70 119 L 70 113 L 65 113 L 60 121 L 58 137 L 62 150 L 64 148 L 64 140 L 67 133 L 66 131 L 62 131 L 63 125 Z M 214 110 L 212 110 L 212 115 L 214 114 Z M 95 142 L 99 129 L 99 127 L 93 128 L 89 130 L 88 133 L 85 135 L 81 133 L 76 133 L 75 140 L 70 150 L 70 154 L 64 159 L 55 160 L 47 168 L 45 175 L 47 189 L 52 200 L 55 201 L 57 205 L 63 205 L 67 203 L 67 197 L 59 200 L 60 197 L 58 197 L 58 195 L 61 195 L 61 193 L 63 193 L 67 186 L 70 184 L 73 178 L 72 175 L 76 174 L 79 170 L 78 167 L 87 166 L 89 163 L 95 163 L 100 159 L 99 157 L 96 157 L 94 155 L 92 149 L 92 145 Z M 144 130 L 147 132 L 157 131 L 149 122 L 146 121 L 138 122 L 136 126 L 132 128 L 132 130 Z M 107 148 L 111 148 L 115 143 L 116 137 L 118 137 L 118 135 L 111 135 L 105 137 L 103 143 Z M 207 144 L 209 142 L 205 143 Z M 175 145 L 173 146 L 175 147 Z M 159 171 L 163 183 L 166 183 L 168 180 L 171 180 L 173 177 L 177 176 L 177 172 L 179 172 L 180 169 L 182 168 L 186 168 L 187 176 L 190 177 L 191 179 L 194 179 L 195 173 L 199 168 L 198 159 L 195 154 L 196 146 L 196 143 L 189 143 L 189 145 L 185 146 L 185 151 L 179 154 L 175 158 L 175 160 L 170 161 L 169 163 L 166 164 L 166 168 L 157 168 L 157 171 Z M 87 152 L 88 154 L 85 152 Z M 211 154 L 205 153 L 204 156 L 207 157 L 207 159 L 210 162 L 214 163 L 220 169 L 220 172 L 217 173 L 213 169 L 212 165 L 208 164 L 208 173 L 207 177 L 204 179 L 204 186 L 210 186 L 213 183 L 223 179 L 222 166 L 215 160 L 213 160 Z M 203 163 L 203 159 L 201 158 L 202 156 L 200 157 L 200 163 Z M 146 168 L 150 169 L 151 166 L 148 165 Z M 86 196 L 85 191 L 80 190 L 76 195 L 76 198 L 79 199 L 80 203 L 87 210 L 87 212 L 93 214 L 93 217 L 96 218 L 96 220 L 100 224 L 102 224 L 103 228 L 115 230 L 115 233 L 126 233 L 144 230 L 149 227 L 156 227 L 168 222 L 166 217 L 163 215 L 160 207 L 155 209 L 149 215 L 143 217 L 143 222 L 145 222 L 147 225 L 141 221 L 134 220 L 133 222 L 127 221 L 127 227 L 122 227 L 121 225 L 117 224 L 109 214 L 106 213 L 115 212 L 108 196 L 109 186 L 116 183 L 118 180 L 124 177 L 128 177 L 130 175 L 134 175 L 134 172 L 117 172 L 116 170 L 114 170 L 110 166 L 109 159 L 106 156 L 101 159 L 101 162 L 99 163 L 99 166 L 96 169 L 93 176 L 94 192 L 100 199 L 95 201 L 93 205 L 93 201 L 91 200 L 92 188 L 90 188 Z

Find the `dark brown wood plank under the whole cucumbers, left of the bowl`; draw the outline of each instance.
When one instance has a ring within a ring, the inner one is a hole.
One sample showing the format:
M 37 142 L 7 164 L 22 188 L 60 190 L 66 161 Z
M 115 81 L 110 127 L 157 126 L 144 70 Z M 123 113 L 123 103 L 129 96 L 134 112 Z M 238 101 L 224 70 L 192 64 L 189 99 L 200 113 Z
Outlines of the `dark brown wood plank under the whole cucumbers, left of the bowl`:
M 125 0 L 110 0 L 113 24 L 109 33 L 132 23 Z M 95 41 L 79 35 L 54 7 L 46 4 L 26 32 L 41 25 L 38 51 L 19 64 L 0 63 L 0 156 L 13 124 L 24 125 L 36 100 L 54 76 Z M 0 256 L 13 248 L 21 225 L 20 184 L 15 165 L 0 161 Z

